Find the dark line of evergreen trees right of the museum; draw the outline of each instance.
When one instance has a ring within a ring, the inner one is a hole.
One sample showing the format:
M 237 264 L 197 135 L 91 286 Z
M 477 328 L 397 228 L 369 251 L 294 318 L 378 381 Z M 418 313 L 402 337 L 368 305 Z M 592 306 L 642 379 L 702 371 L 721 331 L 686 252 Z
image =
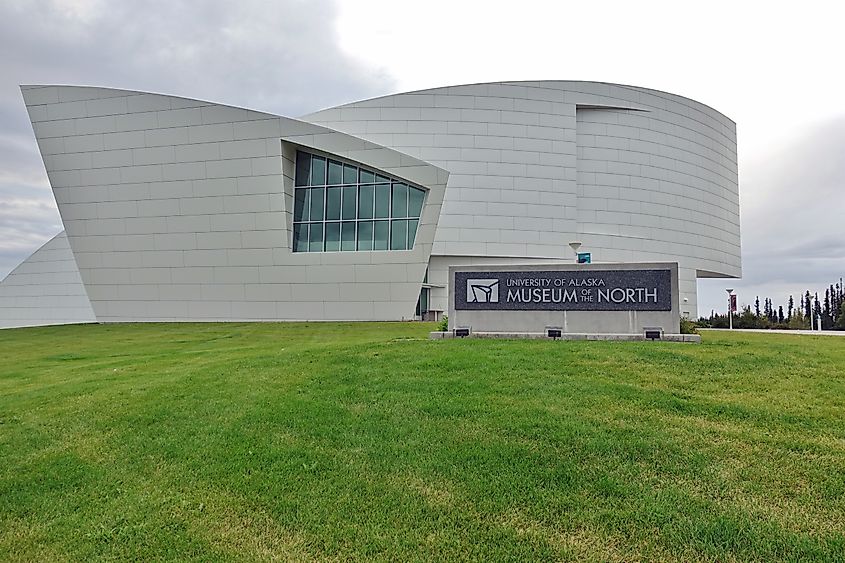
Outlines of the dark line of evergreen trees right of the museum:
M 819 297 L 818 292 L 811 294 L 809 290 L 804 295 L 799 295 L 797 301 L 790 295 L 786 310 L 783 305 L 775 308 L 768 297 L 763 299 L 761 308 L 758 296 L 754 299 L 753 309 L 751 305 L 745 305 L 741 311 L 734 313 L 733 326 L 807 330 L 810 328 L 811 318 L 814 330 L 818 328 L 819 318 L 822 320 L 822 330 L 845 330 L 845 284 L 842 278 L 824 290 L 823 298 Z M 701 317 L 696 324 L 704 328 L 728 328 L 729 319 L 727 314 L 719 314 L 714 310 L 710 312 L 709 318 Z

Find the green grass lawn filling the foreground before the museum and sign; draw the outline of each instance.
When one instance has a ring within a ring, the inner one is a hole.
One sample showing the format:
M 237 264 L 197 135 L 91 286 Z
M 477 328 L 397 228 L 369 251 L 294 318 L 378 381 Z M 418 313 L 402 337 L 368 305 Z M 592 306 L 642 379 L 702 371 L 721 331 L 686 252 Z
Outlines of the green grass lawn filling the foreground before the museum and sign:
M 845 338 L 0 331 L 0 560 L 845 559 Z

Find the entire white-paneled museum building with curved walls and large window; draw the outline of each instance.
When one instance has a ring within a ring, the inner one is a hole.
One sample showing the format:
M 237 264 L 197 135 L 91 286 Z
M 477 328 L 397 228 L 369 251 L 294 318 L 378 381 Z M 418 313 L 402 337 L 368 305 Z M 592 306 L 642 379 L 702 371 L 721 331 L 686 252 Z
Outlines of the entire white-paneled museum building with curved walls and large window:
M 450 266 L 673 262 L 741 275 L 735 124 L 616 84 L 436 88 L 288 118 L 22 86 L 64 231 L 0 283 L 0 327 L 408 320 Z

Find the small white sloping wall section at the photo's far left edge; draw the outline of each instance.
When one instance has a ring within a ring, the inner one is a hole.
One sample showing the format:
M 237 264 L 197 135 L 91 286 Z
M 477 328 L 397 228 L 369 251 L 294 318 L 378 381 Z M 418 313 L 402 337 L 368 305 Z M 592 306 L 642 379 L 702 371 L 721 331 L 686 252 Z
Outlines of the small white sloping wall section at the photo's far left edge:
M 64 232 L 0 282 L 0 328 L 96 321 Z

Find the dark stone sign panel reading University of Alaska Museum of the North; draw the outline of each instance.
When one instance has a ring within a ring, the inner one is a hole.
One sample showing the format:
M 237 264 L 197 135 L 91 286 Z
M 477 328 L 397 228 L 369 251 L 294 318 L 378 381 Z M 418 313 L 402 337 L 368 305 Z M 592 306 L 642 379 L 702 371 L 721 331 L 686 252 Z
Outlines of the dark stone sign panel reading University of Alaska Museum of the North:
M 670 270 L 455 272 L 456 310 L 671 311 Z

